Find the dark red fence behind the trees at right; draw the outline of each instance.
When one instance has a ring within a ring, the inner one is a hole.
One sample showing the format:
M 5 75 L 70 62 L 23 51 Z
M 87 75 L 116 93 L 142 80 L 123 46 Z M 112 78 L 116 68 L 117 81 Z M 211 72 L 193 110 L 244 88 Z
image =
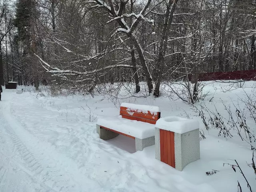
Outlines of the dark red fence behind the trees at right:
M 192 75 L 189 76 L 191 80 Z M 200 73 L 198 81 L 256 80 L 256 70 Z

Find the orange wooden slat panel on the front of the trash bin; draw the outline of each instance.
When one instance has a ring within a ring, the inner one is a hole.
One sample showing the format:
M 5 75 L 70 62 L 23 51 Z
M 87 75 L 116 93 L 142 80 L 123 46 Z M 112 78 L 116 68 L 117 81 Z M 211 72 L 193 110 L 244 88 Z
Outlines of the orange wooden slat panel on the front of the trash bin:
M 174 132 L 160 129 L 160 159 L 175 168 Z

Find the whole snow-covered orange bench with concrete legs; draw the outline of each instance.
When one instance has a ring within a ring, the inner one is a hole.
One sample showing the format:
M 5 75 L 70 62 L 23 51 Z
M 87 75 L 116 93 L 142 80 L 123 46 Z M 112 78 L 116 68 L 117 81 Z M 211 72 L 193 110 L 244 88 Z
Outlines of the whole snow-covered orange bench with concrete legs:
M 103 140 L 119 134 L 128 136 L 135 139 L 136 151 L 142 151 L 155 144 L 155 124 L 159 118 L 159 107 L 122 103 L 120 116 L 98 119 L 97 133 Z

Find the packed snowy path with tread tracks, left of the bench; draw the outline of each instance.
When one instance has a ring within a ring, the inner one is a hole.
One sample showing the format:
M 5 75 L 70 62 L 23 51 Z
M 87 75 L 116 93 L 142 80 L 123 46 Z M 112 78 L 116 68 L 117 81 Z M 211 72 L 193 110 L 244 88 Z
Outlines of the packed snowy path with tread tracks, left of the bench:
M 50 151 L 50 148 L 44 148 L 45 143 L 40 143 L 33 138 L 25 129 L 22 128 L 14 118 L 10 115 L 10 100 L 2 101 L 0 104 L 0 124 L 1 124 L 1 168 L 0 180 L 3 178 L 7 182 L 0 182 L 2 191 L 22 191 L 19 184 L 15 184 L 20 177 L 12 173 L 15 165 L 20 170 L 21 174 L 30 178 L 35 186 L 31 191 L 40 189 L 39 191 L 91 191 L 95 189 L 97 184 L 83 178 L 76 169 L 76 164 L 71 164 L 66 157 L 61 157 L 56 151 Z M 4 133 L 5 132 L 5 133 Z M 3 138 L 8 142 L 4 142 Z M 2 150 L 5 151 L 2 151 Z M 45 156 L 45 151 L 47 155 Z M 8 154 L 8 155 L 6 155 Z M 50 154 L 50 156 L 49 156 Z M 69 165 L 63 164 L 58 159 L 66 159 Z M 9 163 L 8 163 L 9 162 Z M 12 174 L 12 176 L 9 176 Z M 22 176 L 23 177 L 23 176 Z M 72 178 L 75 178 L 74 181 Z M 26 181 L 27 182 L 27 181 Z M 23 182 L 27 187 L 26 182 Z M 79 182 L 79 184 L 76 184 Z M 10 187 L 14 186 L 14 188 Z M 92 187 L 93 186 L 93 187 Z M 28 191 L 28 189 L 24 190 Z

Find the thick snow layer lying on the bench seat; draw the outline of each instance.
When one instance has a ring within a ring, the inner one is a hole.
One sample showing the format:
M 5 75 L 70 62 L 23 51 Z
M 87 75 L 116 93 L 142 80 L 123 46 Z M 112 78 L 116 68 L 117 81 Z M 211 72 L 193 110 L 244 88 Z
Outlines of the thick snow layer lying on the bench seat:
M 155 125 L 136 120 L 118 117 L 100 118 L 97 124 L 139 139 L 155 135 Z

